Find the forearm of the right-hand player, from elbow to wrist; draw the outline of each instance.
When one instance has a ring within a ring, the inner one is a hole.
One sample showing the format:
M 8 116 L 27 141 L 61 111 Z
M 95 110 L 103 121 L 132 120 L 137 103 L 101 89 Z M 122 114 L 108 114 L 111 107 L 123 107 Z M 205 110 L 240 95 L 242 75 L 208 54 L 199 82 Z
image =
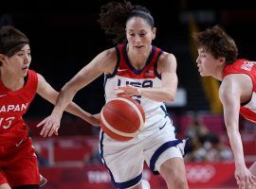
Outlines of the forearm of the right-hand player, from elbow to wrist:
M 233 151 L 235 165 L 245 165 L 241 135 L 236 129 L 228 129 L 229 142 Z

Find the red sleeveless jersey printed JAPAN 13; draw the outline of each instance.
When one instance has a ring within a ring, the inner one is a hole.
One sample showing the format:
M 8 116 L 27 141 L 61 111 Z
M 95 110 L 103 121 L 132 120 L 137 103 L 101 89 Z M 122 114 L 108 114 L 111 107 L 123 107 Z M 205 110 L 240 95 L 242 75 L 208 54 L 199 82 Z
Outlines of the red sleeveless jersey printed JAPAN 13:
M 32 70 L 28 70 L 27 82 L 17 91 L 10 91 L 0 80 L 0 145 L 27 136 L 22 116 L 36 94 L 37 84 L 37 74 Z

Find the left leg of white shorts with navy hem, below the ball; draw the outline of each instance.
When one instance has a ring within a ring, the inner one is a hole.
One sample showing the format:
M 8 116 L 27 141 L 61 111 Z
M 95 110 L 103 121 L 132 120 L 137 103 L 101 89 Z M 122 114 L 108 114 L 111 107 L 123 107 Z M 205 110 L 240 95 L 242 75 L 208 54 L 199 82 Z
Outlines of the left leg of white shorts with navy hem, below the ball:
M 139 140 L 138 138 L 125 143 L 119 142 L 101 132 L 101 159 L 116 188 L 142 189 L 144 157 Z

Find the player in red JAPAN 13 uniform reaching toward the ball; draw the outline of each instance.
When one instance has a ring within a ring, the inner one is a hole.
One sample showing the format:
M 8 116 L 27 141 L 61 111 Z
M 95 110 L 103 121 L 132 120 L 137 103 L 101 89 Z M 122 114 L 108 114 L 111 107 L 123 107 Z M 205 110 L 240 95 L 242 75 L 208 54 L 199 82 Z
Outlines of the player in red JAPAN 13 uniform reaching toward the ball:
M 0 29 L 0 189 L 38 189 L 46 180 L 39 175 L 37 157 L 22 115 L 35 94 L 55 103 L 58 93 L 45 78 L 29 70 L 27 36 L 12 26 Z M 67 111 L 97 125 L 98 120 L 74 103 Z

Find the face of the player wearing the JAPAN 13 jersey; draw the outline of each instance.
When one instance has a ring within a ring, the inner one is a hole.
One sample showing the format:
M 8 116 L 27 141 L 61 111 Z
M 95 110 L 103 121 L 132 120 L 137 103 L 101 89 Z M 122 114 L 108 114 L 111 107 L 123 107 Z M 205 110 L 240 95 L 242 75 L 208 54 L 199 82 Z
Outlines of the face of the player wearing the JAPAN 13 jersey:
M 7 58 L 6 68 L 16 76 L 26 77 L 30 61 L 30 47 L 26 44 L 20 51 Z

